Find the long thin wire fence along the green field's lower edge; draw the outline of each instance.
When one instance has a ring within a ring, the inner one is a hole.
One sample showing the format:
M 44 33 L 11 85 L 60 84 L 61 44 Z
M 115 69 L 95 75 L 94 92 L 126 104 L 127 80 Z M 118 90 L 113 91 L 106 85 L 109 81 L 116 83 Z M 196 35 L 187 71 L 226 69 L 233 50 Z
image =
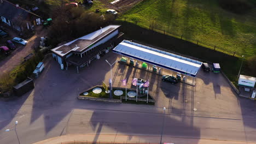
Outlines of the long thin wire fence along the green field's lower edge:
M 194 43 L 194 44 L 197 44 L 197 45 L 200 45 L 203 47 L 207 47 L 212 50 L 220 51 L 220 52 L 226 53 L 231 56 L 242 57 L 242 55 L 246 55 L 245 53 L 242 53 L 239 51 L 232 51 L 232 50 L 225 49 L 224 47 L 220 47 L 218 45 L 213 45 L 213 44 L 207 43 L 207 41 L 202 41 L 200 39 L 193 39 L 193 38 L 185 37 L 185 35 L 188 35 L 185 33 L 178 34 L 178 33 L 172 32 L 172 31 L 168 31 L 168 28 L 166 26 L 162 26 L 160 23 L 158 23 L 154 20 L 151 21 L 148 26 L 145 26 L 143 22 L 140 23 L 140 21 L 138 21 L 138 20 L 127 19 L 127 17 L 124 17 L 123 20 L 125 22 L 134 23 L 135 25 L 141 26 L 146 29 L 150 29 L 152 31 L 156 31 L 156 32 L 159 32 L 159 33 L 162 33 L 165 35 L 171 35 L 172 37 L 176 37 L 179 39 L 187 40 L 187 41 L 190 41 L 191 43 Z M 249 57 L 249 56 L 246 56 L 246 57 Z

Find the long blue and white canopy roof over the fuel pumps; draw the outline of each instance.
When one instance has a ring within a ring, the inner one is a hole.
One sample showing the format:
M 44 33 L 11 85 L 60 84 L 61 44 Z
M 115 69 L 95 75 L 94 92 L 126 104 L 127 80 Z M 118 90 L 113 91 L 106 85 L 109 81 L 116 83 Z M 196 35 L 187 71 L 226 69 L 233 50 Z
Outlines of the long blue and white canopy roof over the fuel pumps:
M 123 40 L 113 49 L 113 52 L 192 77 L 196 76 L 202 65 L 202 62 L 128 40 Z

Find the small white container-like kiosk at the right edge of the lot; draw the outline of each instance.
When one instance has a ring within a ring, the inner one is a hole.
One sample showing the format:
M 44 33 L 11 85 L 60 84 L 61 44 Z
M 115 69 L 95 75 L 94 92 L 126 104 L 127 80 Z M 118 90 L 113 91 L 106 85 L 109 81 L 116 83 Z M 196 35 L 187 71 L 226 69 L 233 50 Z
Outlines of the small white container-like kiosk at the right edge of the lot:
M 245 91 L 254 88 L 256 77 L 240 75 L 238 79 L 238 86 L 245 87 Z

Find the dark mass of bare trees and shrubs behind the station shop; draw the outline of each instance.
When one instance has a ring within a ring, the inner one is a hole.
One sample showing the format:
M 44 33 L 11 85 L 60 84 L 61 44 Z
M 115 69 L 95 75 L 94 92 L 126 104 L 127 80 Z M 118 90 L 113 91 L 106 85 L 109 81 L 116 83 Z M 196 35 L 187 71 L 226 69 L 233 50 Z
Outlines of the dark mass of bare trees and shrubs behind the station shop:
M 113 15 L 101 15 L 80 7 L 56 7 L 51 16 L 53 25 L 49 27 L 49 43 L 52 46 L 94 32 L 115 19 Z

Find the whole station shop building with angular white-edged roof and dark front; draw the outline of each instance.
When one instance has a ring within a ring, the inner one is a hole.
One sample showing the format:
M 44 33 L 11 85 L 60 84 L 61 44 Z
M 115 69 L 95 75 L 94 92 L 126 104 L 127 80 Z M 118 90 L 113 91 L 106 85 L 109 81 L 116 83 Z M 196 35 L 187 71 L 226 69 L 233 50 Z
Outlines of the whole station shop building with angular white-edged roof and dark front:
M 61 69 L 68 69 L 69 65 L 79 68 L 90 64 L 101 53 L 106 53 L 123 40 L 123 33 L 119 31 L 119 25 L 109 25 L 98 29 L 88 35 L 70 41 L 67 44 L 55 47 L 53 58 L 60 64 Z

